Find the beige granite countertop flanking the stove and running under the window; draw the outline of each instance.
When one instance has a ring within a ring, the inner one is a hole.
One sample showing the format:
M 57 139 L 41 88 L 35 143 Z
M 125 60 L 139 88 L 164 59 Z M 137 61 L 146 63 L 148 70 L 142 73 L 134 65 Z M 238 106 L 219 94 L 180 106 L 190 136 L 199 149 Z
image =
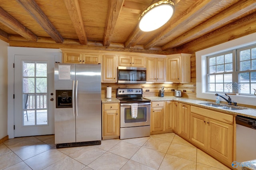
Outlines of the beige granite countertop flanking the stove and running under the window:
M 220 111 L 222 113 L 227 113 L 230 115 L 242 115 L 242 116 L 246 116 L 246 117 L 252 117 L 256 119 L 256 109 L 252 109 L 249 107 L 244 107 L 246 109 L 241 109 L 241 110 L 227 110 L 227 109 L 222 109 L 222 108 L 217 108 L 217 107 L 212 107 L 212 106 L 205 106 L 201 103 L 208 103 L 209 101 L 206 100 L 198 100 L 198 99 L 191 99 L 191 98 L 179 98 L 179 97 L 174 97 L 174 96 L 165 96 L 165 97 L 144 97 L 148 100 L 151 100 L 151 102 L 154 101 L 177 101 L 177 102 L 182 102 L 184 104 L 189 104 L 191 106 L 199 106 L 205 109 L 212 109 L 214 111 Z M 102 98 L 102 103 L 108 103 L 108 102 L 112 102 L 112 103 L 119 103 L 120 100 L 118 100 L 117 98 Z M 225 105 L 225 104 L 223 104 Z M 225 105 L 226 106 L 226 105 Z M 238 108 L 239 108 L 239 104 L 238 104 Z

